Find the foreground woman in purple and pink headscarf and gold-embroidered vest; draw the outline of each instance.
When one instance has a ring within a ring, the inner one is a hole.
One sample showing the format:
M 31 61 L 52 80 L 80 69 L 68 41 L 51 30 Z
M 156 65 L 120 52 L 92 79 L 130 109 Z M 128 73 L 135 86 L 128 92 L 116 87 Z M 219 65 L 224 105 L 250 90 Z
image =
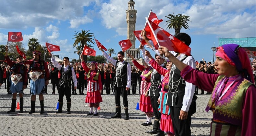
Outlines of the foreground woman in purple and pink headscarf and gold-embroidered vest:
M 206 112 L 213 111 L 210 135 L 256 134 L 256 88 L 246 51 L 237 44 L 218 47 L 215 66 L 218 74 L 196 71 L 177 60 L 168 49 L 164 54 L 181 71 L 181 76 L 200 89 L 212 92 Z

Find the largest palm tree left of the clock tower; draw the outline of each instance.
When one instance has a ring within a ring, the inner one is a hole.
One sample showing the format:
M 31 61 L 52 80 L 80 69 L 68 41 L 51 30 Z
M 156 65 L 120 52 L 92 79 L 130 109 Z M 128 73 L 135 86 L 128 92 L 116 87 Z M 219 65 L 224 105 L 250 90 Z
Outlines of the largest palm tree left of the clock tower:
M 75 46 L 81 46 L 82 49 L 84 49 L 84 46 L 88 46 L 87 43 L 93 43 L 92 41 L 93 39 L 91 37 L 93 37 L 92 33 L 88 33 L 89 31 L 85 31 L 85 30 L 81 30 L 81 32 L 76 32 L 75 31 L 75 35 L 72 39 L 75 39 L 75 42 L 73 44 L 73 47 Z M 78 45 L 80 43 L 80 45 Z M 89 46 L 88 46 L 89 47 Z M 87 55 L 84 55 L 84 60 L 87 63 Z

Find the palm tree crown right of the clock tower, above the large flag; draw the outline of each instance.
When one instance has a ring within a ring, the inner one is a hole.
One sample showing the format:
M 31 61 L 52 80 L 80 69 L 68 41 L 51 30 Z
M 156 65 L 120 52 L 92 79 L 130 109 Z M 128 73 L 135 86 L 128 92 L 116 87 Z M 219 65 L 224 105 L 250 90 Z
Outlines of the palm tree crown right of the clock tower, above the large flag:
M 168 17 L 170 16 L 170 17 Z M 168 24 L 167 28 L 172 28 L 175 30 L 175 34 L 178 34 L 180 33 L 180 29 L 182 27 L 184 27 L 185 29 L 189 29 L 189 23 L 188 21 L 191 22 L 191 20 L 189 20 L 190 16 L 185 16 L 185 15 L 182 15 L 182 14 L 177 14 L 176 16 L 172 14 L 169 14 L 168 16 L 165 16 L 167 17 L 168 19 L 170 20 L 167 20 L 165 21 L 166 22 L 166 25 Z

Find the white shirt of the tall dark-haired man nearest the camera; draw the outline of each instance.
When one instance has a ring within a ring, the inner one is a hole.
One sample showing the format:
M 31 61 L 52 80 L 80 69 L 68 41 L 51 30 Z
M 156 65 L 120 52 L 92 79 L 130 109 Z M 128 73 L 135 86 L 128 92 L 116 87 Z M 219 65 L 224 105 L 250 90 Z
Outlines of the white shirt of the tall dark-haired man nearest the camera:
M 150 40 L 151 41 L 151 40 Z M 152 41 L 151 41 L 152 42 Z M 153 43 L 150 43 L 151 45 L 153 45 Z M 156 50 L 153 46 L 152 48 L 153 51 L 155 51 L 158 55 L 160 54 L 158 50 Z M 176 52 L 174 51 L 169 51 L 170 53 L 172 53 L 174 56 L 177 55 Z M 177 59 L 181 60 L 181 58 L 184 56 L 185 54 L 180 54 L 179 56 L 177 56 Z M 159 55 L 161 58 L 164 58 L 166 60 L 169 60 L 167 57 L 162 57 L 161 55 Z M 184 64 L 191 66 L 192 68 L 195 68 L 195 60 L 192 56 L 188 56 L 184 61 Z M 193 85 L 192 83 L 189 83 L 187 81 L 185 81 L 186 83 L 186 87 L 185 87 L 185 94 L 183 97 L 183 102 L 182 102 L 182 108 L 181 110 L 183 111 L 189 111 L 189 107 L 190 104 L 192 102 L 193 96 L 194 96 L 194 92 L 195 92 L 195 85 Z

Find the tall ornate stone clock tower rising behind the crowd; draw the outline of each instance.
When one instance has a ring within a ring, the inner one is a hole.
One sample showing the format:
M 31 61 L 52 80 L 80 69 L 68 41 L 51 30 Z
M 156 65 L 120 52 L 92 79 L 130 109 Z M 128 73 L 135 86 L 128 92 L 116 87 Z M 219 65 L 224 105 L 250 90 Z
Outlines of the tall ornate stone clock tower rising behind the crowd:
M 127 39 L 130 39 L 132 43 L 132 47 L 129 50 L 129 53 L 133 55 L 134 59 L 136 59 L 139 63 L 142 63 L 141 60 L 139 61 L 140 58 L 140 49 L 135 47 L 135 40 L 136 37 L 133 33 L 135 31 L 135 24 L 136 24 L 136 13 L 137 10 L 134 9 L 135 2 L 133 0 L 130 0 L 128 2 L 128 10 L 126 10 L 126 22 L 127 22 Z M 127 57 L 127 54 L 125 54 L 124 60 L 126 62 L 129 62 L 130 64 L 134 65 L 132 60 Z

